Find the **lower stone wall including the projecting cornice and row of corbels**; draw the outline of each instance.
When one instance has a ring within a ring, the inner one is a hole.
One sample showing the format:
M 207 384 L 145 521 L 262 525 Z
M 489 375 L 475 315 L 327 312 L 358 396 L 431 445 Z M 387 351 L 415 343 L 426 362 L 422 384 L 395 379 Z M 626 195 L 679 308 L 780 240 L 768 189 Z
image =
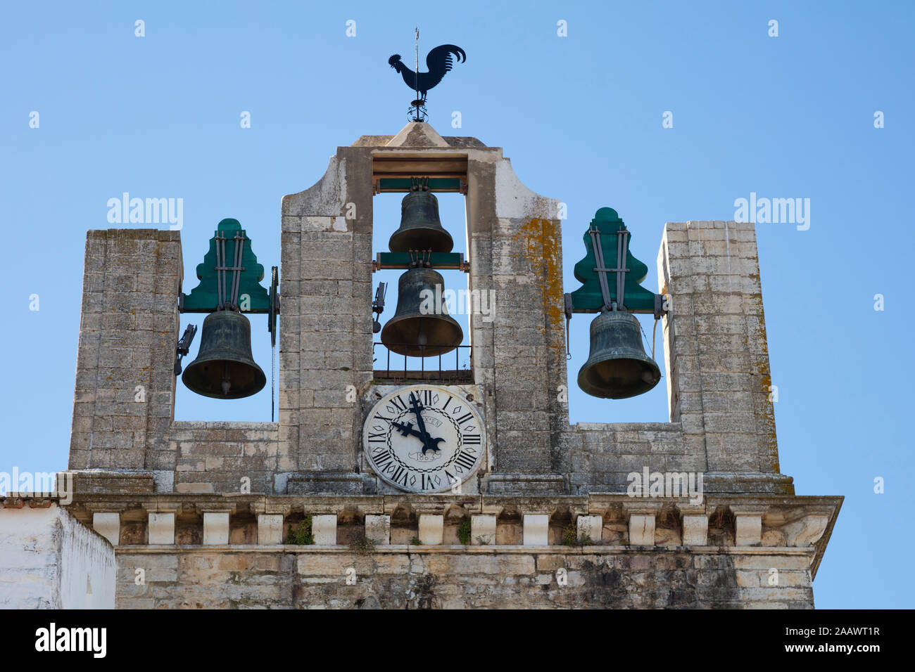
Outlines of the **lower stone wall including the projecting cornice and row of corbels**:
M 812 608 L 840 504 L 78 493 L 70 510 L 116 544 L 120 608 Z M 315 544 L 286 543 L 308 521 Z

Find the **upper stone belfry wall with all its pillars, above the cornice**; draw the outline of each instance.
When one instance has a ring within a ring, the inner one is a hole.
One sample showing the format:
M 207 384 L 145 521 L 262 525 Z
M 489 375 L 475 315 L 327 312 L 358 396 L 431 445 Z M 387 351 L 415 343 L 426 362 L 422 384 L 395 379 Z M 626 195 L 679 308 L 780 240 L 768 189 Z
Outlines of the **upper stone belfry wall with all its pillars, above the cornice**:
M 630 472 L 648 467 L 702 472 L 709 492 L 793 492 L 779 473 L 752 224 L 664 228 L 671 421 L 572 426 L 559 394 L 568 380 L 558 202 L 524 187 L 501 148 L 415 124 L 339 147 L 318 184 L 283 199 L 277 423 L 173 421 L 178 232 L 89 232 L 71 469 L 142 471 L 164 493 L 234 493 L 242 477 L 270 494 L 378 491 L 360 455 L 361 400 L 374 389 L 379 156 L 467 161 L 468 286 L 495 295 L 492 321 L 470 316 L 475 396 L 487 423 L 484 491 L 619 492 Z M 572 327 L 587 328 L 586 318 Z

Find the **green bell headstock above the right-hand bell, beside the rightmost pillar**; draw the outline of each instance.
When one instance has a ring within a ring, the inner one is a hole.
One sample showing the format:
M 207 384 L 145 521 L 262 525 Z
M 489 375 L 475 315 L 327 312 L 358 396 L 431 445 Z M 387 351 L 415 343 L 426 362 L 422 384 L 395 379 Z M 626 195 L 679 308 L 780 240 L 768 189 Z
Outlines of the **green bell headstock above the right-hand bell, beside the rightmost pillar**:
M 666 313 L 663 297 L 648 291 L 641 282 L 648 266 L 630 252 L 631 232 L 613 208 L 600 208 L 584 235 L 587 254 L 575 265 L 582 286 L 565 294 L 565 315 L 599 313 L 615 307 L 629 313 Z M 616 306 L 614 306 L 616 304 Z

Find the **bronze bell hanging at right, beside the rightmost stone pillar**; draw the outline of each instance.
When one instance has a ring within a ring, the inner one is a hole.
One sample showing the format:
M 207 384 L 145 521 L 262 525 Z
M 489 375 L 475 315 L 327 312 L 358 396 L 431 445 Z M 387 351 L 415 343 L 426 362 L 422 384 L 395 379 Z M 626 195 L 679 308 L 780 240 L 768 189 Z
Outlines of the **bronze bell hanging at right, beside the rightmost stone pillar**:
M 591 353 L 578 371 L 578 387 L 592 397 L 628 399 L 658 384 L 661 369 L 645 354 L 635 315 L 607 311 L 591 323 Z

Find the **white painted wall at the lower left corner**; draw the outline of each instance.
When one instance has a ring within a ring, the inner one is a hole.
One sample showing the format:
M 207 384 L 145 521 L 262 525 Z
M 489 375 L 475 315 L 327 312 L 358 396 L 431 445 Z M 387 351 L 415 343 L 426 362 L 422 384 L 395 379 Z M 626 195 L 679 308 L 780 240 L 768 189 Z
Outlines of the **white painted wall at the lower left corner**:
M 52 503 L 0 508 L 0 608 L 113 609 L 114 549 Z

